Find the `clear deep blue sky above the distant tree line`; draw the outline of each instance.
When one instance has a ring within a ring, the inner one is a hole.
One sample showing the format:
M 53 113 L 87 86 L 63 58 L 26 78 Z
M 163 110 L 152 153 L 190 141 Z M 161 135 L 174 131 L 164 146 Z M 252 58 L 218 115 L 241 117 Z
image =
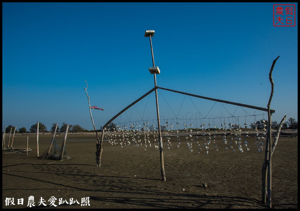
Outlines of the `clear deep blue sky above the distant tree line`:
M 294 27 L 273 26 L 274 4 L 2 3 L 2 130 L 29 131 L 36 122 L 92 130 L 85 80 L 91 106 L 104 108 L 92 110 L 99 129 L 154 87 L 146 30 L 155 30 L 157 85 L 210 98 L 267 108 L 268 75 L 280 56 L 272 120 L 298 121 L 298 4 L 282 3 L 295 5 Z M 267 119 L 259 110 L 165 90 L 158 101 L 162 121 L 180 128 Z M 114 122 L 156 125 L 156 118 L 153 92 Z

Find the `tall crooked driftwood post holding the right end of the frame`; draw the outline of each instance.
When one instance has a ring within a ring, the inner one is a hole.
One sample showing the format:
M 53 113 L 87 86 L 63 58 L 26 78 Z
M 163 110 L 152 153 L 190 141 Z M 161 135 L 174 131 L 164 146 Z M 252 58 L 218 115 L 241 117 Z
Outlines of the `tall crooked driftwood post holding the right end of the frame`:
M 271 100 L 274 94 L 274 82 L 272 79 L 272 71 L 274 68 L 274 65 L 277 61 L 277 59 L 279 58 L 279 56 L 274 59 L 271 69 L 270 69 L 270 73 L 269 73 L 269 80 L 271 83 L 271 94 L 270 94 L 270 98 L 269 98 L 269 102 L 268 102 L 268 128 L 267 128 L 267 138 L 266 138 L 266 146 L 265 146 L 265 160 L 264 163 L 262 165 L 262 203 L 265 204 L 267 201 L 267 205 L 269 208 L 271 208 L 271 183 L 272 183 L 272 179 L 271 179 L 271 140 L 272 140 L 272 133 L 271 133 L 271 123 L 272 123 L 272 113 L 270 106 L 271 106 Z M 282 126 L 282 125 L 281 125 Z M 281 128 L 281 127 L 280 127 Z M 279 131 L 280 131 L 279 128 Z M 279 134 L 278 134 L 279 136 Z M 276 142 L 277 143 L 277 142 Z

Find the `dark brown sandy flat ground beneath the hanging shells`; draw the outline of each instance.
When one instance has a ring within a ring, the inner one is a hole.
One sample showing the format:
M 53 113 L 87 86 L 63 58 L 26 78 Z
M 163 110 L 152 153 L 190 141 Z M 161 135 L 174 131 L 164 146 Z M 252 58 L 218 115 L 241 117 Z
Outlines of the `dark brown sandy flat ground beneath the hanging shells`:
M 2 208 L 27 208 L 30 196 L 34 196 L 34 208 L 54 208 L 49 201 L 52 196 L 57 199 L 56 208 L 266 208 L 260 203 L 265 153 L 258 152 L 255 137 L 247 138 L 250 150 L 243 153 L 237 146 L 236 153 L 225 151 L 223 137 L 216 137 L 219 150 L 211 144 L 208 156 L 205 150 L 198 155 L 196 141 L 204 149 L 200 135 L 197 140 L 193 136 L 193 152 L 187 149 L 185 136 L 180 137 L 179 148 L 178 138 L 173 137 L 170 149 L 163 137 L 167 181 L 161 178 L 153 134 L 152 146 L 147 148 L 104 142 L 101 167 L 95 163 L 95 137 L 68 134 L 65 150 L 71 159 L 63 161 L 38 158 L 36 135 L 29 135 L 32 151 L 27 156 L 16 153 L 19 150 L 2 150 Z M 26 138 L 15 136 L 13 148 L 26 147 Z M 61 146 L 64 134 L 55 138 Z M 229 143 L 230 137 L 226 138 Z M 51 139 L 52 134 L 39 135 L 39 155 Z M 5 140 L 7 146 L 8 134 Z M 46 206 L 38 206 L 41 197 Z M 87 197 L 90 206 L 81 206 Z M 14 198 L 15 205 L 6 206 L 7 198 Z M 21 198 L 23 205 L 18 205 Z M 59 198 L 64 203 L 59 204 Z M 79 204 L 67 204 L 71 198 Z M 272 156 L 272 208 L 298 208 L 298 137 L 280 137 Z

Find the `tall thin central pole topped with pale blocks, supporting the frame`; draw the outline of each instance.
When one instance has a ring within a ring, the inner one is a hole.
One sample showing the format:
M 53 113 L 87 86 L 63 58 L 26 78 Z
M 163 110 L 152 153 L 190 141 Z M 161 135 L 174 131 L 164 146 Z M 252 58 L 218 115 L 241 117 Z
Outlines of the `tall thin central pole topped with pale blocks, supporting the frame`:
M 151 53 L 152 53 L 152 63 L 154 65 L 154 56 L 153 56 L 153 49 L 152 49 L 152 41 L 151 41 L 151 34 L 149 35 L 150 38 L 150 46 L 151 46 Z M 156 73 L 154 72 L 154 85 L 156 85 Z M 164 153 L 163 153 L 163 140 L 161 137 L 161 121 L 159 119 L 159 109 L 158 109 L 158 96 L 157 96 L 157 89 L 155 89 L 155 98 L 156 98 L 156 110 L 157 110 L 157 124 L 158 124 L 158 138 L 159 138 L 159 150 L 160 150 L 160 157 L 161 157 L 161 177 L 163 181 L 166 181 L 166 174 L 164 169 Z

